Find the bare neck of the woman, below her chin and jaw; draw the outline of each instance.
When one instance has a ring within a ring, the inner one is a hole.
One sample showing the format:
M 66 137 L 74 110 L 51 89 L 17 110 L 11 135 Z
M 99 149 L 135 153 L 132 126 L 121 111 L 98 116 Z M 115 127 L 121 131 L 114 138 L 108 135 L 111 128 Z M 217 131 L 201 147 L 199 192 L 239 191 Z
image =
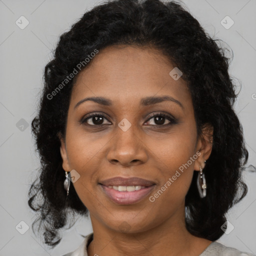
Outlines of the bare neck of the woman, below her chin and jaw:
M 168 219 L 144 231 L 120 232 L 103 226 L 91 216 L 93 240 L 88 256 L 141 256 L 148 255 L 198 256 L 211 243 L 210 240 L 191 235 L 185 221 Z

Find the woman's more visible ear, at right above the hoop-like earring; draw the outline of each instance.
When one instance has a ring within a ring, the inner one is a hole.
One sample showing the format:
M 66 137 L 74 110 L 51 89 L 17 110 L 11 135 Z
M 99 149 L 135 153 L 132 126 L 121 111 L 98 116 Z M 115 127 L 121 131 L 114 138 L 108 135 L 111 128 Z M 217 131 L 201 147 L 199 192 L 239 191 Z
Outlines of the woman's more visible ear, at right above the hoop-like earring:
M 199 151 L 197 159 L 194 163 L 194 170 L 200 170 L 205 166 L 205 160 L 210 156 L 213 142 L 213 126 L 210 123 L 205 123 L 201 129 L 201 134 L 197 139 L 196 152 Z

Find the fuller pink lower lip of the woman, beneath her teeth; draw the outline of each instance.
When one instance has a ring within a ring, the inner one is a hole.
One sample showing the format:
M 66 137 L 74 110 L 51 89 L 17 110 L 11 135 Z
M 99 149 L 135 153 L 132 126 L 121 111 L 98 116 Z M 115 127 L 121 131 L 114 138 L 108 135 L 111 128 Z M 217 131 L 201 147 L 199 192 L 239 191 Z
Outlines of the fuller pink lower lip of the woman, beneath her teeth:
M 143 198 L 145 198 L 151 190 L 154 188 L 154 185 L 147 186 L 135 191 L 117 191 L 113 188 L 101 185 L 104 193 L 113 201 L 118 204 L 133 204 Z

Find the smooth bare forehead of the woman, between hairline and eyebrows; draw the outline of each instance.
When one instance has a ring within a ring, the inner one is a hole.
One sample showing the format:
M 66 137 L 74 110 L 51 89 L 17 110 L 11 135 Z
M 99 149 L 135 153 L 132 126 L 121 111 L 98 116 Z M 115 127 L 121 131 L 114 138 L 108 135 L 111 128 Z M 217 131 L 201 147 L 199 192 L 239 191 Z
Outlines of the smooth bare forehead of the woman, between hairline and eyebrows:
M 104 96 L 124 103 L 162 94 L 190 100 L 186 82 L 182 77 L 174 80 L 170 76 L 175 66 L 155 48 L 109 46 L 99 50 L 90 61 L 77 74 L 71 101 Z

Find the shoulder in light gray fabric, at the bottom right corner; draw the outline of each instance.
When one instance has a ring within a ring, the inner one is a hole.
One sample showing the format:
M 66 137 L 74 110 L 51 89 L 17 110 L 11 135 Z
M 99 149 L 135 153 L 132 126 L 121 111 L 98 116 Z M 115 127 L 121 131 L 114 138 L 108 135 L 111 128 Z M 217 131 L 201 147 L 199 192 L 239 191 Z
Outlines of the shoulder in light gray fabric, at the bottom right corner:
M 199 256 L 256 256 L 213 241 Z

